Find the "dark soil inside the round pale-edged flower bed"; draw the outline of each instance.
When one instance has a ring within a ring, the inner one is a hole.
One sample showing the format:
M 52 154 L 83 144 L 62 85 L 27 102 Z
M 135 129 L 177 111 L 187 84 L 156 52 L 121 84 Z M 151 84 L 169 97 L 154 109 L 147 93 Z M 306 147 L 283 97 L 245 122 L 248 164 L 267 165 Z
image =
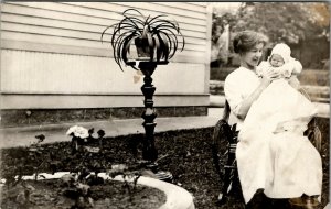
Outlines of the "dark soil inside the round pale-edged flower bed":
M 67 197 L 71 190 L 63 184 L 61 179 L 26 180 L 24 187 L 29 188 L 29 200 L 23 197 L 22 191 L 24 191 L 24 188 L 21 184 L 10 188 L 3 187 L 1 208 L 71 208 L 75 205 L 75 200 Z M 20 193 L 22 194 L 21 197 Z M 92 186 L 89 197 L 93 199 L 96 209 L 157 209 L 166 202 L 163 191 L 137 185 L 135 191 L 130 195 L 124 188 L 124 183 L 117 180 Z M 89 206 L 88 199 L 85 198 L 81 201 L 81 205 Z

